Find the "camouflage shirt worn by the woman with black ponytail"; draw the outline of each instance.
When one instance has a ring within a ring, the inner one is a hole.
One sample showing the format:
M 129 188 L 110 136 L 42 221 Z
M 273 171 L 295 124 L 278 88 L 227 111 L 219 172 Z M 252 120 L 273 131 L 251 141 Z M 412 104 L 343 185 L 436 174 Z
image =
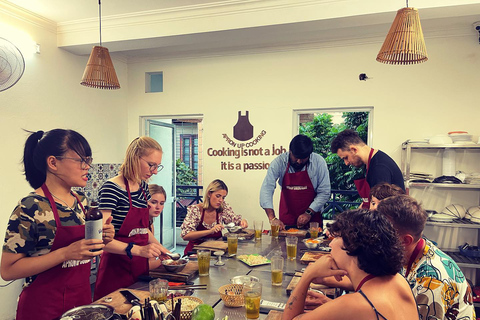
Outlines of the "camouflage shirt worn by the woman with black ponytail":
M 80 192 L 77 192 L 77 195 L 87 210 L 87 198 Z M 85 224 L 85 214 L 77 200 L 73 205 L 74 211 L 65 205 L 59 203 L 56 205 L 62 226 Z M 32 192 L 20 200 L 10 216 L 3 252 L 23 253 L 27 257 L 47 254 L 52 248 L 55 232 L 55 217 L 48 199 Z M 27 278 L 27 285 L 33 279 Z

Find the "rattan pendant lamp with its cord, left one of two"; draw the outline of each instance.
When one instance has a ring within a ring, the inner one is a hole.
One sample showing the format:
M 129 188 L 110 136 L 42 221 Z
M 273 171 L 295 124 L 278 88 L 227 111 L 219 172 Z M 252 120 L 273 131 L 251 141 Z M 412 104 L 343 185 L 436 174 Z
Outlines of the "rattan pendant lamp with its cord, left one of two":
M 110 53 L 107 48 L 102 47 L 101 0 L 98 0 L 98 16 L 100 21 L 100 45 L 93 47 L 80 84 L 97 89 L 120 89 L 120 83 L 118 82 Z

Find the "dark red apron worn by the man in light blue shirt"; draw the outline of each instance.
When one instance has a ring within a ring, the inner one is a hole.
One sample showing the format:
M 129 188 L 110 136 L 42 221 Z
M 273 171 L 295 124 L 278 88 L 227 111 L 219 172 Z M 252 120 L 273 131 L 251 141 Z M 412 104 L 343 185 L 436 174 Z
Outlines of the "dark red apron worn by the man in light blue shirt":
M 308 165 L 307 165 L 308 166 Z M 297 226 L 297 218 L 305 213 L 315 199 L 316 192 L 308 176 L 307 167 L 299 172 L 289 173 L 290 162 L 287 165 L 282 181 L 279 216 L 285 226 Z M 310 220 L 322 226 L 322 214 L 316 213 Z

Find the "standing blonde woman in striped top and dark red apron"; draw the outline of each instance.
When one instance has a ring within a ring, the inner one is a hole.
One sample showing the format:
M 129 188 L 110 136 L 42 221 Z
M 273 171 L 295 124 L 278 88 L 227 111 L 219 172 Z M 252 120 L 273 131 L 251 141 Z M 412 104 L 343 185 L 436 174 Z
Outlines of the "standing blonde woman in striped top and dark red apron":
M 100 259 L 94 299 L 126 288 L 148 275 L 149 259 L 170 252 L 149 229 L 147 181 L 163 169 L 162 147 L 150 137 L 134 139 L 127 148 L 119 175 L 106 181 L 99 192 L 103 217 L 113 217 L 115 238 Z M 150 263 L 160 266 L 161 260 Z

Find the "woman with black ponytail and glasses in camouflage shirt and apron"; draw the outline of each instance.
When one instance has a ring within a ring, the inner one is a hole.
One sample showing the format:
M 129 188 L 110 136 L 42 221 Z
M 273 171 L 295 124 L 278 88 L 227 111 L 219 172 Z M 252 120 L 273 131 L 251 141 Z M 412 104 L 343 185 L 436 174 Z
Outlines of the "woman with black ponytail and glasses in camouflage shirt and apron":
M 85 187 L 92 151 L 73 130 L 37 131 L 27 138 L 23 165 L 34 191 L 13 210 L 3 245 L 1 275 L 25 278 L 16 319 L 58 319 L 92 302 L 90 261 L 114 236 L 104 224 L 103 241 L 85 240 Z M 98 251 L 95 251 L 98 250 Z

